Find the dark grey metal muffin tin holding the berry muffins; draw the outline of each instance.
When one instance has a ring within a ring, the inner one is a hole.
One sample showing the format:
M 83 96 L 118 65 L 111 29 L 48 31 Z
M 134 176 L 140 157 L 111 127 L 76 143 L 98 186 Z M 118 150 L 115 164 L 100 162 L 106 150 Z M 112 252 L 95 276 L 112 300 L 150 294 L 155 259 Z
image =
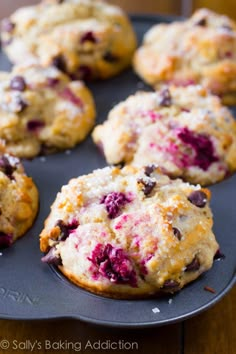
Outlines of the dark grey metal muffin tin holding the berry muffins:
M 169 17 L 133 16 L 139 43 L 155 23 L 171 22 Z M 10 69 L 0 55 L 0 69 Z M 97 105 L 97 123 L 108 111 L 137 90 L 151 90 L 133 71 L 103 82 L 89 84 Z M 119 327 L 151 327 L 177 322 L 209 308 L 235 283 L 236 175 L 210 187 L 214 232 L 225 258 L 176 295 L 144 300 L 113 300 L 87 292 L 67 281 L 58 271 L 41 262 L 39 234 L 50 205 L 70 178 L 87 174 L 106 162 L 91 137 L 75 149 L 24 161 L 28 175 L 40 193 L 40 210 L 35 224 L 0 256 L 0 317 L 3 319 L 75 318 Z M 204 290 L 209 286 L 215 293 Z M 156 310 L 155 310 L 156 309 Z

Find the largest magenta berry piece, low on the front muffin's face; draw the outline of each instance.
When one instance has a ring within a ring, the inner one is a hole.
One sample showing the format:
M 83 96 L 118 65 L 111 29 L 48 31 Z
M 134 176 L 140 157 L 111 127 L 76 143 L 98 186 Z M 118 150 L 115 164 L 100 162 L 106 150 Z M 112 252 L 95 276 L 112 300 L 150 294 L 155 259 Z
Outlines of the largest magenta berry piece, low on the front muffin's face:
M 122 248 L 111 244 L 97 244 L 89 261 L 97 268 L 98 273 L 115 284 L 127 284 L 137 287 L 136 273 L 132 262 Z

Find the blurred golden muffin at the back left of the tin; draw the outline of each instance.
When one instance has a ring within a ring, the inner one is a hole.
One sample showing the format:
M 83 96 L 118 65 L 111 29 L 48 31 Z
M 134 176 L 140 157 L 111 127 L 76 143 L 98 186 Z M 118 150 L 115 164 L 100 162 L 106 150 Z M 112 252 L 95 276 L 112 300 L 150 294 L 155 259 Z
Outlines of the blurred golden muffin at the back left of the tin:
M 136 37 L 118 7 L 93 0 L 47 0 L 2 21 L 13 63 L 54 65 L 77 79 L 106 79 L 130 65 Z

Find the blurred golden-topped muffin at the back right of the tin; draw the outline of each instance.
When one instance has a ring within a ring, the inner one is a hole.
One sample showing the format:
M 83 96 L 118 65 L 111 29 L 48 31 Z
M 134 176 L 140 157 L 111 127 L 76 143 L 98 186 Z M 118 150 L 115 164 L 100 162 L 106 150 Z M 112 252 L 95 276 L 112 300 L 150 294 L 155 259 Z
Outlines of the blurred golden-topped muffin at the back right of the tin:
M 186 21 L 153 26 L 133 63 L 156 88 L 201 84 L 236 104 L 236 23 L 226 16 L 200 9 Z

